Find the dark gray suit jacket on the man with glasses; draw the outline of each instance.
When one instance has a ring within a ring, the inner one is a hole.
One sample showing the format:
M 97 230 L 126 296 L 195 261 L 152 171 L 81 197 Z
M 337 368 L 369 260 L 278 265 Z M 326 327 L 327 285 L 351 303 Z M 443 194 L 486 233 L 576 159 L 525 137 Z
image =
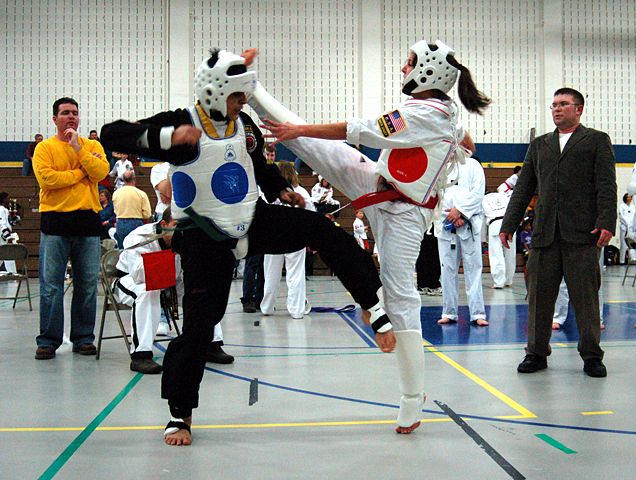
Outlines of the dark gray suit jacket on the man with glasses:
M 513 233 L 538 193 L 532 232 L 533 247 L 561 238 L 576 244 L 596 243 L 595 228 L 616 228 L 616 166 L 609 136 L 579 125 L 563 152 L 555 130 L 535 139 L 528 149 L 501 232 Z

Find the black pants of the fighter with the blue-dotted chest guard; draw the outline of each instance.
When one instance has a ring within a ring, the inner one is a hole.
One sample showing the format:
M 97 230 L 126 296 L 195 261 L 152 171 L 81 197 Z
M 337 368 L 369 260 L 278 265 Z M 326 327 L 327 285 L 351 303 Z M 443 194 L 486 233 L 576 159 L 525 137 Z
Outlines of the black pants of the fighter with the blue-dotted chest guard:
M 291 253 L 309 246 L 362 308 L 379 301 L 380 278 L 371 255 L 322 215 L 259 200 L 248 238 L 247 256 Z M 172 248 L 181 255 L 183 269 L 183 328 L 168 345 L 161 383 L 161 396 L 168 400 L 173 417 L 189 417 L 199 404 L 205 352 L 227 307 L 235 244 L 215 241 L 198 228 L 174 234 Z

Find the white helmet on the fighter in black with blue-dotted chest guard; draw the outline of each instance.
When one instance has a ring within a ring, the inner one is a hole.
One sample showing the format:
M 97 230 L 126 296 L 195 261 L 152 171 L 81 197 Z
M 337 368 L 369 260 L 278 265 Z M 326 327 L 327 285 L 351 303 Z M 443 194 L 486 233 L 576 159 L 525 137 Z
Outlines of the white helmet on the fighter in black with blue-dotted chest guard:
M 194 76 L 194 93 L 205 112 L 212 116 L 216 110 L 227 116 L 227 97 L 236 92 L 252 93 L 256 88 L 256 72 L 246 71 L 245 59 L 225 50 L 218 52 L 218 60 L 210 66 L 211 58 L 199 65 Z

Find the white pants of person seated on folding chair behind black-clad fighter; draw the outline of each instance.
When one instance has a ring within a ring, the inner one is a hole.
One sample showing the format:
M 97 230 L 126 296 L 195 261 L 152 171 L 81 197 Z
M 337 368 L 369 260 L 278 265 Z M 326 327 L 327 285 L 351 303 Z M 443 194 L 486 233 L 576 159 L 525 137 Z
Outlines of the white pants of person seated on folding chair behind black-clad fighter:
M 115 293 L 121 303 L 132 307 L 130 353 L 152 352 L 161 316 L 161 290 L 147 291 L 145 283 L 135 283 L 126 275 L 119 279 Z

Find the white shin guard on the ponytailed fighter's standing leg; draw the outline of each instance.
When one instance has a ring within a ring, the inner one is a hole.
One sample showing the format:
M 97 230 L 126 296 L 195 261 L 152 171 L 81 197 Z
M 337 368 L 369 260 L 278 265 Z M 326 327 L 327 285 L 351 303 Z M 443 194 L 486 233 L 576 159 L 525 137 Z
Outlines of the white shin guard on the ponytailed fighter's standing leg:
M 410 427 L 420 419 L 424 400 L 424 349 L 422 334 L 418 330 L 395 332 L 395 353 L 400 374 L 400 411 L 397 423 Z

